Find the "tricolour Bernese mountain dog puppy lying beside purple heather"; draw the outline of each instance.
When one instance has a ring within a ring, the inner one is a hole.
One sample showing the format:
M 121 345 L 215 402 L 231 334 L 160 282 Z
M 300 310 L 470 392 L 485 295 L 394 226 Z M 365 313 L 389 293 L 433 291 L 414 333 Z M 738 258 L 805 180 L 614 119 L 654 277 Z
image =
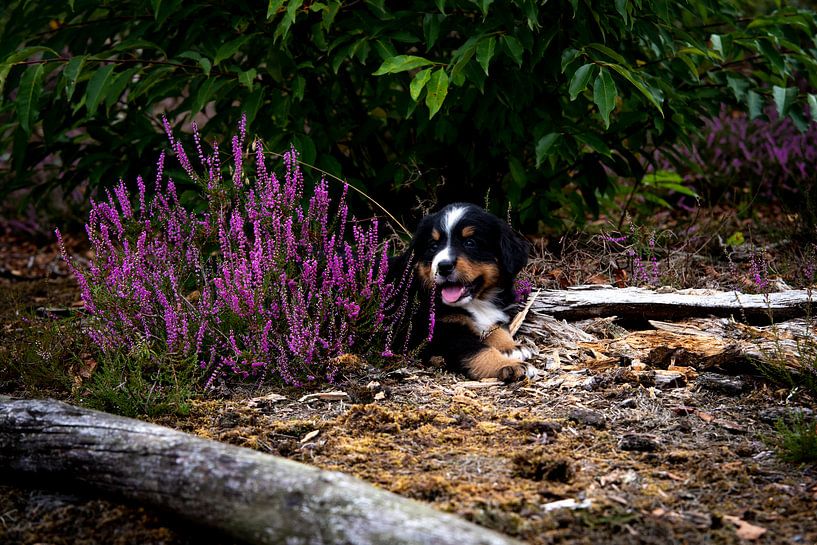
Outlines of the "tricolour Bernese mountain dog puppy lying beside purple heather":
M 433 313 L 421 357 L 441 356 L 450 370 L 473 379 L 514 381 L 534 373 L 524 363 L 530 352 L 507 327 L 516 314 L 514 279 L 529 250 L 507 223 L 473 204 L 450 204 L 423 218 L 406 253 L 389 263 L 393 279 L 411 273 L 406 289 L 419 302 L 413 343 Z

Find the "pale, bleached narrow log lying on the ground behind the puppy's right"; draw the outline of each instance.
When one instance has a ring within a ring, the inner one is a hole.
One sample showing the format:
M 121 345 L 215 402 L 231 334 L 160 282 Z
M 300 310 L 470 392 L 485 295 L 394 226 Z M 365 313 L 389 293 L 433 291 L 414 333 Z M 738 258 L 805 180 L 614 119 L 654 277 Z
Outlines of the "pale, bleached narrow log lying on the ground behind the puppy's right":
M 566 290 L 544 290 L 533 304 L 534 312 L 560 320 L 583 320 L 618 316 L 626 320 L 677 320 L 717 316 L 752 323 L 789 320 L 809 312 L 808 290 L 769 294 L 687 289 L 655 291 L 612 286 L 575 286 Z

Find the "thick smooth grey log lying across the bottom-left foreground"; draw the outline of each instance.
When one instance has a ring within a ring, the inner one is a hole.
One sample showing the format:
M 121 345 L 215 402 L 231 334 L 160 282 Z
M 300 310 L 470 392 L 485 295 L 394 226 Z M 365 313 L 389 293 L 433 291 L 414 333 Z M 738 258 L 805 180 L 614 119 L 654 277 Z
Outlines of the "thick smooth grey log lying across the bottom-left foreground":
M 53 400 L 0 397 L 0 475 L 85 485 L 251 544 L 516 543 L 342 473 Z

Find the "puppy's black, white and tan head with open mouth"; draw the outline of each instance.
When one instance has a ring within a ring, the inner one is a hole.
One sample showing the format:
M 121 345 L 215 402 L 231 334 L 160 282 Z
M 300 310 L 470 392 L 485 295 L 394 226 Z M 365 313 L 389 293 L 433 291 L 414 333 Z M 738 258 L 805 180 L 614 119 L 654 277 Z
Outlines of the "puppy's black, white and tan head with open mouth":
M 528 260 L 527 241 L 473 204 L 451 204 L 423 218 L 412 246 L 420 278 L 454 307 L 510 289 Z

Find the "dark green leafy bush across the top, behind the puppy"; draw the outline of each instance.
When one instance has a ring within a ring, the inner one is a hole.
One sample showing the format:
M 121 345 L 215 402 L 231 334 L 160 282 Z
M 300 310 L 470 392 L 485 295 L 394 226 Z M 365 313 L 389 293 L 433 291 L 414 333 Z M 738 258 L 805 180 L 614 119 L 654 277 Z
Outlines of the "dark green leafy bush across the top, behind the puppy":
M 529 226 L 597 212 L 722 102 L 817 116 L 817 21 L 737 0 L 12 1 L 0 15 L 3 191 L 131 180 L 157 114 L 241 110 L 271 150 L 406 213 L 510 202 Z M 798 79 L 799 78 L 799 79 Z

